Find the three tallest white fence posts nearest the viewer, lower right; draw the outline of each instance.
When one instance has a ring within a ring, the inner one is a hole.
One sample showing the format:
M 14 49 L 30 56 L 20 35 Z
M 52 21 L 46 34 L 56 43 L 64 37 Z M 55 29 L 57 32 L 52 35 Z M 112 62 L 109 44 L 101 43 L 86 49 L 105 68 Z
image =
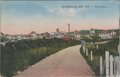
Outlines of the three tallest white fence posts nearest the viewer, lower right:
M 109 55 L 109 51 L 105 51 L 105 60 L 100 56 L 100 76 L 114 76 L 114 57 Z

